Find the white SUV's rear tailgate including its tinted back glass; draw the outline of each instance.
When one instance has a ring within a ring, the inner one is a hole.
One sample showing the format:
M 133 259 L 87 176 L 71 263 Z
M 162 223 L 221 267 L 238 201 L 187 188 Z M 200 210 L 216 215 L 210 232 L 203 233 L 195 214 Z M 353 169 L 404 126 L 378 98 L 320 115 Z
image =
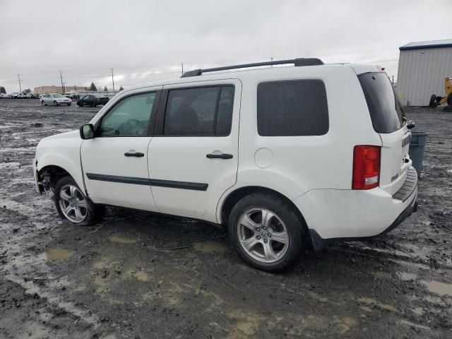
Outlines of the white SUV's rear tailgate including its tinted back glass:
M 380 187 L 393 195 L 403 186 L 408 168 L 412 165 L 408 155 L 411 132 L 386 73 L 363 73 L 358 78 L 374 130 L 379 133 L 383 144 Z

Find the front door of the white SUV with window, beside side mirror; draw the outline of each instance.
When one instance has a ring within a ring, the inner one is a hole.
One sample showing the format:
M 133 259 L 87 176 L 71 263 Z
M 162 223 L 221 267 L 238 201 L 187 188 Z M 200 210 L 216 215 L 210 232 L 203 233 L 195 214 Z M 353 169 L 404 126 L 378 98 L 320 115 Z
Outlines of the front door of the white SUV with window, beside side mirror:
M 157 210 L 148 177 L 157 90 L 125 95 L 96 122 L 95 138 L 81 146 L 83 175 L 95 203 Z

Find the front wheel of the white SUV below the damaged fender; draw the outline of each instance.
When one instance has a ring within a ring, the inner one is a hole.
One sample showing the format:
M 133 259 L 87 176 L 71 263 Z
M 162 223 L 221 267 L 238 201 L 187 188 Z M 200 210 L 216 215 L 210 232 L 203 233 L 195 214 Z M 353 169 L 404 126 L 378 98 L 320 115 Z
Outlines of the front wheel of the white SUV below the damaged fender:
M 102 220 L 105 214 L 105 206 L 92 203 L 90 208 L 87 198 L 69 175 L 62 177 L 57 182 L 54 202 L 61 219 L 72 225 L 95 225 Z

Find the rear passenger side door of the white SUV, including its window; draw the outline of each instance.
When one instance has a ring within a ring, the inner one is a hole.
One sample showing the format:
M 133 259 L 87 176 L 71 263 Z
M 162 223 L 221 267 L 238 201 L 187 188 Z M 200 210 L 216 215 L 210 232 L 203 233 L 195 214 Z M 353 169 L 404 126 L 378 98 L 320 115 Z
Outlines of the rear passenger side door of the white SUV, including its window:
M 237 180 L 237 80 L 165 85 L 149 145 L 150 184 L 161 213 L 216 222 L 220 196 Z

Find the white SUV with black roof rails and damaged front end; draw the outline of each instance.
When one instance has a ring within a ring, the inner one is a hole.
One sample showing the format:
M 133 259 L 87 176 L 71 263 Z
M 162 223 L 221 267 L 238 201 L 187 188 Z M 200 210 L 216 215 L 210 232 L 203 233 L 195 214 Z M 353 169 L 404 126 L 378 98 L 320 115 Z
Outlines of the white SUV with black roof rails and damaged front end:
M 273 61 L 124 90 L 80 131 L 42 139 L 33 167 L 73 224 L 105 205 L 205 220 L 273 271 L 417 208 L 412 126 L 376 66 Z

